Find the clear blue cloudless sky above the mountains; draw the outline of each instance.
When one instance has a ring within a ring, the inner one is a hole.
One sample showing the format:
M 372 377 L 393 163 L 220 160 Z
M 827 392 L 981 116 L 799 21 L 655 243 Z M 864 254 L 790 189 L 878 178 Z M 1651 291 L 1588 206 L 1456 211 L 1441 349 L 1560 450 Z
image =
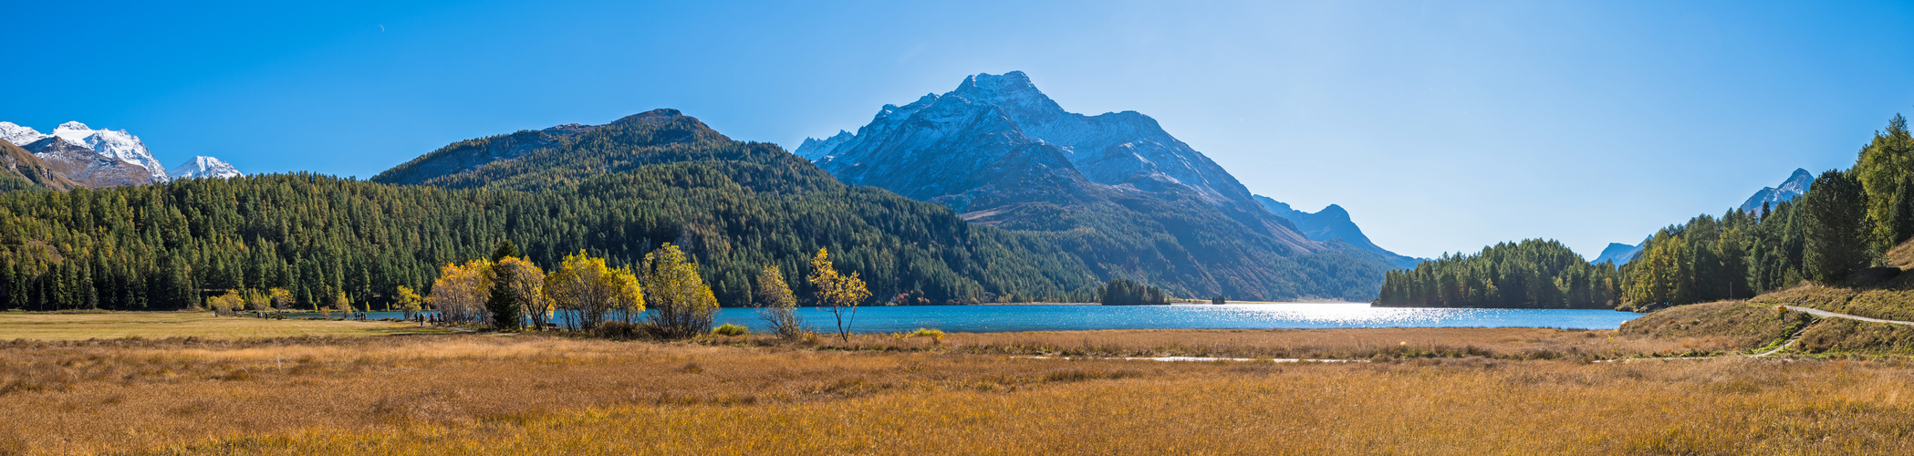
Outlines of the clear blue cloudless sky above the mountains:
M 1196 4 L 1196 6 L 1192 6 Z M 1914 113 L 1908 2 L 21 2 L 0 121 L 371 176 L 678 107 L 796 148 L 965 75 L 1133 109 L 1405 255 L 1583 255 L 1847 167 Z

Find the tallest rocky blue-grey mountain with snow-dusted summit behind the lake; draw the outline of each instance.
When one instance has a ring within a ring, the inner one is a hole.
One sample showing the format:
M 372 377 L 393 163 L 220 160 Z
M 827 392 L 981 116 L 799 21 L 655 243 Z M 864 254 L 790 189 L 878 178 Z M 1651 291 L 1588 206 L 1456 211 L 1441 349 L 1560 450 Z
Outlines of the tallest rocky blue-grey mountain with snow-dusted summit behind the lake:
M 846 184 L 1041 234 L 1102 280 L 1171 295 L 1367 301 L 1397 264 L 1349 239 L 1311 239 L 1148 115 L 1064 111 L 1020 71 L 882 105 L 857 132 L 808 138 L 796 153 Z

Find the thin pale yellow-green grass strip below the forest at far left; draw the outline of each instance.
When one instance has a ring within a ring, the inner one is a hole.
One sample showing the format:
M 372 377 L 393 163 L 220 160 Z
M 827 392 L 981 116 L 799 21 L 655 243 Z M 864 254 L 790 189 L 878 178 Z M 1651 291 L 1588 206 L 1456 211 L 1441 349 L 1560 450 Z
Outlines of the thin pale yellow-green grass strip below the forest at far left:
M 212 316 L 212 312 L 0 312 L 0 341 L 6 339 L 119 339 L 119 337 L 350 337 L 450 333 L 400 322 L 350 320 L 264 320 Z

